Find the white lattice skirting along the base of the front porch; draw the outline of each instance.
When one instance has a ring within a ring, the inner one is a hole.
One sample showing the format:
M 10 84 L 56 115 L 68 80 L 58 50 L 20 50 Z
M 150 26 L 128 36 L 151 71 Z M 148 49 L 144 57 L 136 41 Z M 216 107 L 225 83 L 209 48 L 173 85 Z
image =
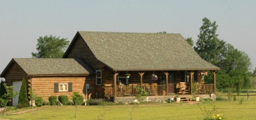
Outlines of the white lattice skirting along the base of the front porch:
M 157 95 L 157 96 L 147 96 L 147 98 L 144 101 L 150 101 L 150 102 L 161 102 L 166 101 L 169 98 L 174 98 L 177 95 Z M 193 95 L 179 95 L 180 97 L 186 97 L 187 99 L 191 99 Z M 215 94 L 198 94 L 198 96 L 202 98 L 211 98 L 216 99 Z M 114 103 L 131 103 L 134 101 L 135 96 L 117 96 L 115 97 Z

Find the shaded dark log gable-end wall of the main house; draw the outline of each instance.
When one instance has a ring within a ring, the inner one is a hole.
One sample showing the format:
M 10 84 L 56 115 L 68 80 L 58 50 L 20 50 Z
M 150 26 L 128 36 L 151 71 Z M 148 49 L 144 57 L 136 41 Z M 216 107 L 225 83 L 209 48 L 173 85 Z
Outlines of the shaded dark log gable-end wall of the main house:
M 86 76 L 86 84 L 90 84 L 89 92 L 92 98 L 104 97 L 103 84 L 109 82 L 105 81 L 105 78 L 106 76 L 109 76 L 106 74 L 111 73 L 110 69 L 105 70 L 108 68 L 104 67 L 104 65 L 96 59 L 96 57 L 93 55 L 90 48 L 87 46 L 84 39 L 80 35 L 76 36 L 76 38 L 74 39 L 74 44 L 70 47 L 70 51 L 67 51 L 64 58 L 81 58 L 94 71 L 102 71 L 102 85 L 96 85 L 95 74 L 90 74 L 89 76 Z M 107 73 L 105 73 L 104 71 L 106 71 Z

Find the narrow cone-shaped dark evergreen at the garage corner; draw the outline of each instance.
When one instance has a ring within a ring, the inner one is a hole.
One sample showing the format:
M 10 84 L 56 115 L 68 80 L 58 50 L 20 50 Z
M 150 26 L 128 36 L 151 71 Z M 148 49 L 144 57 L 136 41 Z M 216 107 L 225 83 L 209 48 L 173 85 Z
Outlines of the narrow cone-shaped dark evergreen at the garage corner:
M 21 91 L 19 91 L 18 106 L 19 108 L 28 107 L 27 84 L 25 78 L 22 79 Z

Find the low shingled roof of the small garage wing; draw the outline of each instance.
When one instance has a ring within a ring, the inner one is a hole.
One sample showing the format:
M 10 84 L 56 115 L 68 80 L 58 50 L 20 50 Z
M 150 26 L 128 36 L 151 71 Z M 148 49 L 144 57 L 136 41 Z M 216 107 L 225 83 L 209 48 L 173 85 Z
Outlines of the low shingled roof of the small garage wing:
M 27 75 L 65 75 L 92 72 L 91 68 L 79 64 L 73 58 L 13 58 Z

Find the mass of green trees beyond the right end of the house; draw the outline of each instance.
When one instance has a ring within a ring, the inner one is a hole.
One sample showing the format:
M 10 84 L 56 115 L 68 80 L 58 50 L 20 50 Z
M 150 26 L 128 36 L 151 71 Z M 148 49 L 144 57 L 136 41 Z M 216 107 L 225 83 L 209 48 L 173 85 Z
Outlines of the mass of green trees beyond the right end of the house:
M 216 74 L 216 87 L 232 87 L 238 94 L 241 89 L 251 87 L 249 75 L 253 73 L 248 74 L 251 67 L 250 57 L 218 38 L 218 25 L 215 21 L 212 23 L 208 18 L 203 18 L 202 21 L 203 25 L 200 27 L 199 39 L 194 49 L 205 61 L 221 68 Z M 211 74 L 205 77 L 205 83 L 212 83 Z

